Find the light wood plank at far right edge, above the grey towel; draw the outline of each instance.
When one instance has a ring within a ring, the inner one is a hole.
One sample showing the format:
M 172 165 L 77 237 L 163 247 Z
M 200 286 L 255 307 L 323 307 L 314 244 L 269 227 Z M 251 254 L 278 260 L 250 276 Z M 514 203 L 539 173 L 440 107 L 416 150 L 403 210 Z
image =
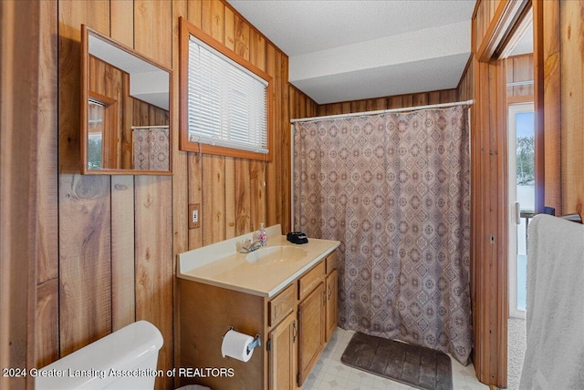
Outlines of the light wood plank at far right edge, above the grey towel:
M 562 205 L 567 213 L 584 209 L 584 4 L 559 2 L 561 74 Z

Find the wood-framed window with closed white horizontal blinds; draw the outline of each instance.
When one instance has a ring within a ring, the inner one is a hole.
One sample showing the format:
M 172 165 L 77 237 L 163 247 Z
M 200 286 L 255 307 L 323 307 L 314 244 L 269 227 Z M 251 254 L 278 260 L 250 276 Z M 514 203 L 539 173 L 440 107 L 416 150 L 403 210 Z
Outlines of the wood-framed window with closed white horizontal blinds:
M 181 149 L 271 159 L 270 81 L 181 19 Z

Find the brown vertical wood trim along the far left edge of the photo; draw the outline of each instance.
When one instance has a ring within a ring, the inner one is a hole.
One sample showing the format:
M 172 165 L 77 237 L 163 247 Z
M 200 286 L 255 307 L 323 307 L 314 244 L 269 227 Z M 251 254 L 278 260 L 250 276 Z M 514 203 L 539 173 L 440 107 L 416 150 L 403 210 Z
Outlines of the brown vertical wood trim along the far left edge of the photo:
M 41 172 L 37 162 L 43 146 L 39 145 L 41 137 L 37 132 L 51 130 L 47 127 L 50 115 L 48 121 L 41 118 L 41 110 L 50 107 L 51 101 L 47 106 L 43 99 L 52 96 L 51 79 L 55 79 L 56 71 L 54 66 L 42 68 L 54 50 L 49 41 L 41 38 L 45 27 L 51 31 L 54 26 L 48 22 L 51 16 L 46 15 L 48 12 L 38 2 L 11 1 L 0 5 L 0 366 L 3 368 L 36 364 L 35 343 L 39 336 L 36 334 L 36 260 L 42 249 L 37 245 L 40 234 L 37 207 L 41 202 L 35 195 L 44 180 L 38 176 Z M 23 46 L 31 52 L 23 51 Z M 47 71 L 47 77 L 40 76 L 41 70 Z M 23 88 L 23 85 L 31 87 Z M 50 257 L 43 260 L 50 261 Z M 50 269 L 51 264 L 47 267 Z M 42 295 L 41 292 L 40 299 Z M 2 375 L 0 386 L 33 389 L 34 378 Z

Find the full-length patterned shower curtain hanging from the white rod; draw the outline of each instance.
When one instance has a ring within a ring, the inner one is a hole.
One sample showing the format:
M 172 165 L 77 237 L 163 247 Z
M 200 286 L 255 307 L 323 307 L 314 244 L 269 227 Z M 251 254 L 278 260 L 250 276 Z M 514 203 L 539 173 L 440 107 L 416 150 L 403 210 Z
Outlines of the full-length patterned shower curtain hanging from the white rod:
M 299 122 L 295 229 L 339 240 L 339 326 L 468 364 L 467 109 Z

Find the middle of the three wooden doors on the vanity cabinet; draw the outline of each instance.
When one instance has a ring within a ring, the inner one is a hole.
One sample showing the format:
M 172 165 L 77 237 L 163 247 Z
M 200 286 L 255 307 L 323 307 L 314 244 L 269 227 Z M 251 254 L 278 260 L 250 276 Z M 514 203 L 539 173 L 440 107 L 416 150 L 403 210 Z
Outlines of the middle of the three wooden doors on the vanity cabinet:
M 298 386 L 304 383 L 324 349 L 326 303 L 325 283 L 320 282 L 298 304 Z

